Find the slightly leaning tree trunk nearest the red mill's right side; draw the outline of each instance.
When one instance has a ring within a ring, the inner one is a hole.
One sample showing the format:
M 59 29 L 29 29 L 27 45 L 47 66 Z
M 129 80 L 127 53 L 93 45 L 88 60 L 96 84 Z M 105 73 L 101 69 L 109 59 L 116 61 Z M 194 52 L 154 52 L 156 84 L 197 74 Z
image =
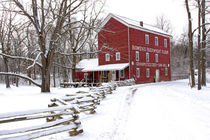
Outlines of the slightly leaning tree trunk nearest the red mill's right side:
M 192 34 L 192 18 L 191 12 L 189 9 L 188 0 L 185 0 L 185 6 L 187 9 L 188 15 L 188 38 L 189 38 L 189 57 L 190 57 L 190 77 L 191 77 L 191 88 L 195 86 L 195 73 L 194 73 L 194 64 L 193 64 L 193 34 Z

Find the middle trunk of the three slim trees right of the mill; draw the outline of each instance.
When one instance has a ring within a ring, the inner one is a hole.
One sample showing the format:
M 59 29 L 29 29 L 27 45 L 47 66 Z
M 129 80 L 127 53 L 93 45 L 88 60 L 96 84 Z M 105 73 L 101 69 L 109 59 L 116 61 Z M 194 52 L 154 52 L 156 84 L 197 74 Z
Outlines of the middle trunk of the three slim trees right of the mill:
M 198 90 L 201 89 L 201 62 L 200 62 L 200 46 L 201 46 L 201 5 L 200 5 L 200 0 L 197 1 L 198 3 Z

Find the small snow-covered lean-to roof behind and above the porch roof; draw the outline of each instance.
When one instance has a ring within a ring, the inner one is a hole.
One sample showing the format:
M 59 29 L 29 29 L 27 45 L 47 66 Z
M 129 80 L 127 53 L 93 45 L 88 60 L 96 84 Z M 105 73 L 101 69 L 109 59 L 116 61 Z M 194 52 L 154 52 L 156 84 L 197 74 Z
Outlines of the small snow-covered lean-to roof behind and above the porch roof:
M 85 68 L 92 68 L 98 66 L 98 58 L 94 59 L 83 59 L 77 65 L 77 69 L 85 69 Z

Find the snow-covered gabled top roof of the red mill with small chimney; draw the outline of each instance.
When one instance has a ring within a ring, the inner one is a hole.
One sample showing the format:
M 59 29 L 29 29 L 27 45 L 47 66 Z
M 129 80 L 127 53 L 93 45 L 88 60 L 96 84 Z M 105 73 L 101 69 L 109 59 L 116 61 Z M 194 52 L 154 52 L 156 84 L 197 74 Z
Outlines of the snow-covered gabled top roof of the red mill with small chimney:
M 154 34 L 161 34 L 167 37 L 171 37 L 170 34 L 164 32 L 163 30 L 154 27 L 152 25 L 143 23 L 143 26 L 140 26 L 140 21 L 137 20 L 133 20 L 127 17 L 123 17 L 123 16 L 119 16 L 119 15 L 115 15 L 110 13 L 104 20 L 104 22 L 101 24 L 101 28 L 103 28 L 103 26 L 110 20 L 110 18 L 114 18 L 116 20 L 118 20 L 119 22 L 121 22 L 122 24 L 134 28 L 134 29 L 138 29 L 138 30 L 142 30 L 142 31 L 147 31 L 150 33 L 154 33 Z

